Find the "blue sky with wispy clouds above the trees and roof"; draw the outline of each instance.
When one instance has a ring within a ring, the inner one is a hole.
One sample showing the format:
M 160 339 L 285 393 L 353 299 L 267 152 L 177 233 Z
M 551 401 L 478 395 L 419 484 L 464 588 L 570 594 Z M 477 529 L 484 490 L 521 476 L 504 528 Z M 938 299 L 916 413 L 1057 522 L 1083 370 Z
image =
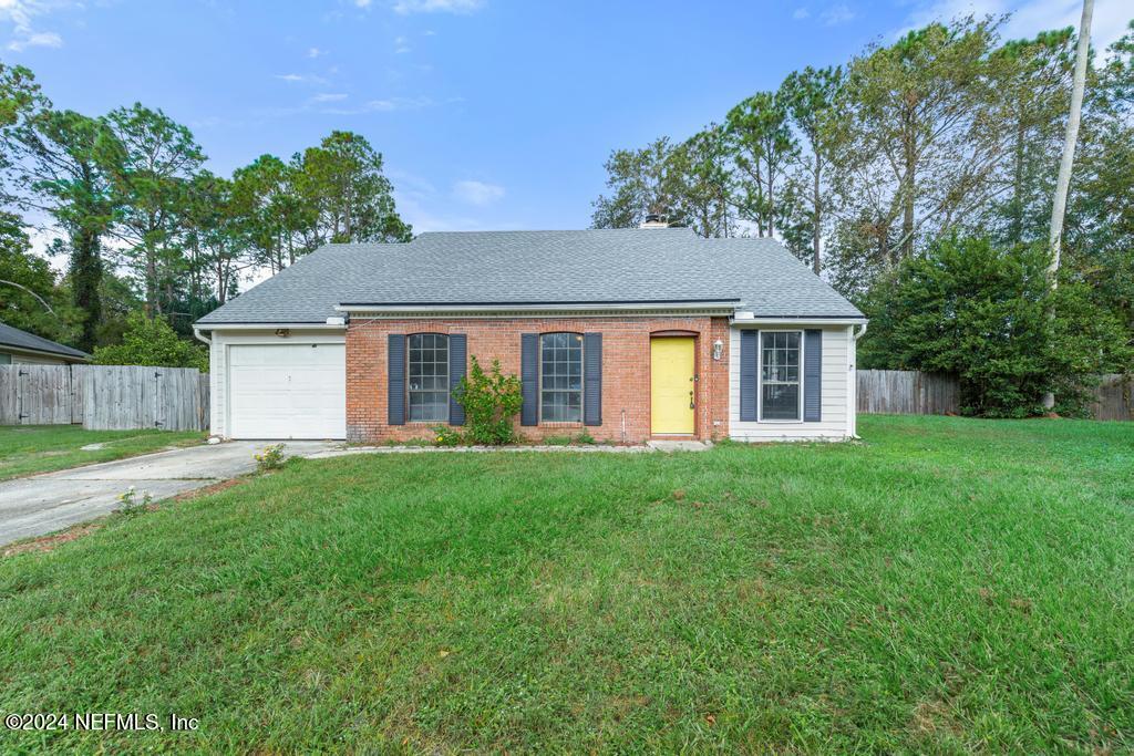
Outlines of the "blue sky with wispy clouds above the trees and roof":
M 1097 44 L 1134 15 L 1098 0 Z M 585 228 L 616 147 L 685 137 L 805 65 L 967 10 L 1012 35 L 1077 0 L 0 0 L 6 62 L 60 108 L 141 101 L 228 175 L 331 129 L 386 156 L 417 231 Z

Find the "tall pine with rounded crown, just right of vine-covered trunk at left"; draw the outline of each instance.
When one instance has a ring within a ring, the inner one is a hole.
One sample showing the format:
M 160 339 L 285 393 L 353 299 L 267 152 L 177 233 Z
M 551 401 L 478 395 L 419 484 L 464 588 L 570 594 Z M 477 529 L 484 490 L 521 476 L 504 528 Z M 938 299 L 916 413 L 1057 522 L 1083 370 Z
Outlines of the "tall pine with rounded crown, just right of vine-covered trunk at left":
M 186 271 L 180 233 L 187 184 L 205 158 L 188 128 L 160 110 L 136 103 L 111 111 L 105 122 L 116 150 L 107 160 L 118 212 L 119 255 L 145 291 L 150 316 L 164 313 Z

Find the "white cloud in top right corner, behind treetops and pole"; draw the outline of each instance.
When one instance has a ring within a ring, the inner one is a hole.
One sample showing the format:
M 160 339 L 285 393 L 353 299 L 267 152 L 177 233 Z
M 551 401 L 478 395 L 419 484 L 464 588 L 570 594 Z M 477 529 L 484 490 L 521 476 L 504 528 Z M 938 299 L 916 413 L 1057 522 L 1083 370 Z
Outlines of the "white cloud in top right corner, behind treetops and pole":
M 1082 0 L 1024 0 L 1014 5 L 1009 0 L 934 0 L 917 5 L 906 19 L 904 34 L 934 20 L 950 20 L 964 16 L 1001 16 L 1012 14 L 1002 29 L 1005 39 L 1035 36 L 1039 32 L 1074 26 L 1083 14 Z M 1131 19 L 1128 0 L 1095 0 L 1091 22 L 1091 42 L 1101 52 L 1126 31 Z

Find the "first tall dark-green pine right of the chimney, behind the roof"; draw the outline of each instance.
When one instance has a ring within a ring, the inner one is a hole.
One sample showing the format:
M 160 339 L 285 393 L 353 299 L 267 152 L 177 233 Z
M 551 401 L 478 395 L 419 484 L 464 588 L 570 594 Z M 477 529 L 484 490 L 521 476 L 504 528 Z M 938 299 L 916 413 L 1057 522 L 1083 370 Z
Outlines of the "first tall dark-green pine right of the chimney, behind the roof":
M 788 105 L 773 92 L 758 92 L 728 111 L 726 119 L 739 173 L 737 210 L 760 236 L 775 236 L 787 209 L 777 193 L 798 151 L 788 122 Z

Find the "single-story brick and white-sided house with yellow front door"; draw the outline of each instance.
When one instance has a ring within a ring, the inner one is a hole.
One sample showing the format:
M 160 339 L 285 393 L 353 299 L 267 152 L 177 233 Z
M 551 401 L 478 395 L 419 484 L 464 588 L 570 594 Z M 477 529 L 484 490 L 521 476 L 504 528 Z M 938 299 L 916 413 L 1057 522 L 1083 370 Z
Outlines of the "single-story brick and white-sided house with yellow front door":
M 634 443 L 854 436 L 865 324 L 773 239 L 643 228 L 328 245 L 195 330 L 219 436 L 428 436 L 475 356 L 524 436 Z

